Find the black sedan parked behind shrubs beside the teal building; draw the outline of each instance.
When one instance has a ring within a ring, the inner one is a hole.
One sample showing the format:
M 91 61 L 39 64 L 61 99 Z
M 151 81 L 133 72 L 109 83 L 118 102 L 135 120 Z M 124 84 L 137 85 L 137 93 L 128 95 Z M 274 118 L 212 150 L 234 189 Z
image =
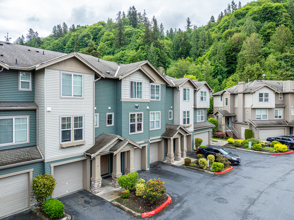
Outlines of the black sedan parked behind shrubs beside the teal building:
M 219 147 L 219 146 L 212 146 L 209 145 L 207 147 L 201 147 L 198 148 L 197 150 L 197 154 L 202 154 L 203 156 L 205 156 L 207 158 L 208 155 L 212 154 L 212 155 L 217 155 L 217 154 L 221 154 L 223 156 L 226 156 L 229 158 L 229 161 L 232 164 L 238 164 L 241 162 L 240 156 L 229 152 L 227 149 Z

